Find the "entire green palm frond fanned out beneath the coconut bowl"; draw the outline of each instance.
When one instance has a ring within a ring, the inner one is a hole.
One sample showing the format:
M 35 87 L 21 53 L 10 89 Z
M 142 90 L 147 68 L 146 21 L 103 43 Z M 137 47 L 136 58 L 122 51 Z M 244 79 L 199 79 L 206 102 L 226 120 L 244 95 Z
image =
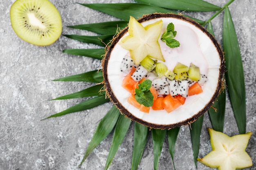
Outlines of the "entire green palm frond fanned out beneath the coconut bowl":
M 122 29 L 127 26 L 128 20 L 130 16 L 135 18 L 140 18 L 143 15 L 149 13 L 177 13 L 177 10 L 186 10 L 186 11 L 216 11 L 218 12 L 213 15 L 207 22 L 203 22 L 201 20 L 192 18 L 196 22 L 200 24 L 208 24 L 208 30 L 213 34 L 213 28 L 211 22 L 216 15 L 218 15 L 223 9 L 225 9 L 224 22 L 223 22 L 223 50 L 225 51 L 226 57 L 226 78 L 229 90 L 229 96 L 231 99 L 232 108 L 234 110 L 234 115 L 238 124 L 238 129 L 240 133 L 245 133 L 245 83 L 243 76 L 243 65 L 241 61 L 240 50 L 238 46 L 238 41 L 236 37 L 236 32 L 234 29 L 234 24 L 231 19 L 231 15 L 229 13 L 229 9 L 220 8 L 214 4 L 210 4 L 203 0 L 162 0 L 162 3 L 159 3 L 158 0 L 136 0 L 141 3 L 119 3 L 119 4 L 81 4 L 85 7 L 107 13 L 114 17 L 121 19 L 122 21 L 113 21 L 113 22 L 101 22 L 94 24 L 81 24 L 76 26 L 69 26 L 71 28 L 82 29 L 87 31 L 92 31 L 94 33 L 100 34 L 98 36 L 84 36 L 84 35 L 64 35 L 68 38 L 75 39 L 85 43 L 96 44 L 102 47 L 105 47 L 106 44 L 110 42 L 113 36 L 116 34 L 118 29 Z M 227 3 L 227 6 L 232 1 Z M 168 8 L 168 9 L 166 9 Z M 171 11 L 170 9 L 175 9 L 176 11 Z M 214 34 L 213 34 L 214 35 Z M 236 47 L 236 48 L 234 48 Z M 103 48 L 99 49 L 66 49 L 63 52 L 68 54 L 74 54 L 79 56 L 91 57 L 94 59 L 102 59 L 101 56 L 105 53 Z M 230 71 L 229 71 L 230 70 Z M 238 72 L 234 73 L 233 70 L 238 70 Z M 238 78 L 238 79 L 237 79 Z M 92 82 L 92 83 L 101 83 L 103 81 L 102 70 L 93 70 L 90 72 L 86 72 L 83 74 L 77 74 L 74 76 L 67 76 L 64 78 L 59 78 L 54 81 L 84 81 L 84 82 Z M 79 103 L 69 109 L 62 111 L 60 113 L 56 113 L 55 115 L 49 116 L 48 118 L 62 116 L 68 113 L 73 113 L 77 111 L 83 111 L 85 109 L 90 109 L 101 105 L 105 102 L 108 102 L 109 99 L 105 99 L 104 95 L 99 95 L 99 88 L 102 85 L 95 85 L 93 87 L 89 87 L 88 89 L 84 89 L 80 92 L 76 92 L 74 94 L 65 95 L 54 100 L 60 99 L 69 99 L 69 98 L 78 98 L 78 97 L 89 97 L 89 96 L 97 96 L 91 99 L 88 99 L 84 102 Z M 91 88 L 91 89 L 90 89 Z M 91 92 L 89 92 L 91 90 Z M 99 95 L 99 96 L 98 96 Z M 218 113 L 213 113 L 213 109 L 209 109 L 209 115 L 211 119 L 211 123 L 213 129 L 223 131 L 224 126 L 224 116 L 225 116 L 225 91 L 218 96 L 218 101 L 213 104 L 218 111 Z M 238 96 L 238 97 L 237 97 Z M 111 113 L 114 114 L 114 117 L 111 118 L 109 116 Z M 118 120 L 117 120 L 118 119 Z M 112 122 L 110 124 L 106 122 Z M 202 122 L 203 116 L 198 118 L 198 120 L 191 124 L 191 142 L 193 146 L 193 156 L 195 166 L 197 165 L 196 158 L 199 153 L 200 146 L 200 134 L 202 130 Z M 107 126 L 107 127 L 106 127 Z M 115 157 L 117 150 L 123 141 L 129 127 L 130 120 L 125 118 L 123 115 L 119 116 L 118 109 L 115 106 L 110 109 L 110 111 L 106 114 L 106 116 L 101 120 L 98 125 L 94 135 L 92 137 L 92 141 L 90 142 L 85 156 L 80 164 L 82 165 L 83 161 L 88 157 L 88 155 L 92 152 L 92 150 L 99 145 L 99 143 L 112 131 L 115 127 L 114 136 L 112 139 L 112 145 L 109 151 L 108 159 L 106 161 L 105 169 L 108 169 L 110 163 Z M 106 129 L 105 129 L 106 128 Z M 154 169 L 158 168 L 159 156 L 162 151 L 162 145 L 164 142 L 164 138 L 166 132 L 168 133 L 168 144 L 169 151 L 173 160 L 174 166 L 174 151 L 175 151 L 175 142 L 177 139 L 177 135 L 179 133 L 180 127 L 170 130 L 159 130 L 152 129 L 152 138 L 153 138 L 153 151 L 154 151 Z M 148 128 L 135 123 L 135 132 L 134 132 L 134 150 L 132 155 L 132 168 L 137 169 L 139 162 L 141 160 L 142 153 L 144 151 L 146 141 L 148 138 Z M 175 166 L 174 166 L 175 168 Z

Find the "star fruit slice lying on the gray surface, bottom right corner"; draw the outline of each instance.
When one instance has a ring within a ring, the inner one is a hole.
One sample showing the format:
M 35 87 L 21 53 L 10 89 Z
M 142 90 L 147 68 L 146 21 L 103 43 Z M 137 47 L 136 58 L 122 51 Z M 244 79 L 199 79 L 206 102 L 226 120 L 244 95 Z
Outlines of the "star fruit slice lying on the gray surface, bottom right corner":
M 212 151 L 198 161 L 218 170 L 236 170 L 252 166 L 251 157 L 245 152 L 252 132 L 229 137 L 224 133 L 208 129 Z

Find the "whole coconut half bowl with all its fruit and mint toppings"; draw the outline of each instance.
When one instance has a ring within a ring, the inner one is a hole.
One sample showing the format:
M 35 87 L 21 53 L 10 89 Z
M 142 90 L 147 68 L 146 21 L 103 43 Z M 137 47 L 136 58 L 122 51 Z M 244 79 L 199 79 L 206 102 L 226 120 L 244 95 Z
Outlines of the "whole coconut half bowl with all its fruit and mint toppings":
M 220 92 L 223 61 L 214 37 L 187 17 L 130 17 L 105 54 L 104 84 L 128 118 L 168 129 L 195 121 L 211 107 Z

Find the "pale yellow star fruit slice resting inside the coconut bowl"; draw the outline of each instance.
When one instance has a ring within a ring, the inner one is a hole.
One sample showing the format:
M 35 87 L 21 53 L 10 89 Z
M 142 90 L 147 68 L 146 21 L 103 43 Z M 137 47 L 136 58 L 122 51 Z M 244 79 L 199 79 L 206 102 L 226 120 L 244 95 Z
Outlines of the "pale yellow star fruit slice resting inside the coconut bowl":
M 162 31 L 163 21 L 142 26 L 134 17 L 130 16 L 128 33 L 121 40 L 121 47 L 130 51 L 130 57 L 135 64 L 139 64 L 145 57 L 152 57 L 164 61 L 158 42 Z

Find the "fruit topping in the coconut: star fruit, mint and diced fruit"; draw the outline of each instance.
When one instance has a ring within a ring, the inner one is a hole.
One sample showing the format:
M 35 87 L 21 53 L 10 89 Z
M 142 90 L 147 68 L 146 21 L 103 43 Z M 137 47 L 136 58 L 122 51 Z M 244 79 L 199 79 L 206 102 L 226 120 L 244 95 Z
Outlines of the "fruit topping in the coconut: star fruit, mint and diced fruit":
M 143 27 L 135 18 L 130 17 L 129 35 L 120 43 L 122 48 L 130 51 L 120 66 L 120 71 L 127 74 L 122 87 L 131 93 L 127 101 L 145 113 L 149 113 L 150 107 L 170 113 L 184 105 L 189 96 L 202 93 L 201 86 L 207 82 L 207 76 L 202 75 L 200 68 L 193 63 L 186 66 L 177 62 L 173 70 L 168 69 L 169 63 L 164 63 L 158 39 L 161 37 L 170 48 L 179 48 L 180 42 L 174 39 L 177 31 L 173 23 L 169 23 L 161 35 L 162 25 L 162 20 L 159 20 Z M 136 93 L 136 89 L 145 80 L 150 80 L 151 87 Z

